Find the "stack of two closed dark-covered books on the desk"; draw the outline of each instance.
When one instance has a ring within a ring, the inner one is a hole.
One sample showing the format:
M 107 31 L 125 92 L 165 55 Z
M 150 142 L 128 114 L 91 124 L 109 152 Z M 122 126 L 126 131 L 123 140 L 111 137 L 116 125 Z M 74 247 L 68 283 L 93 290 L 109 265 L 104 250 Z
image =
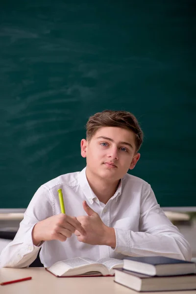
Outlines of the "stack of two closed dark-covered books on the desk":
M 196 264 L 164 256 L 126 257 L 114 281 L 139 292 L 194 290 Z

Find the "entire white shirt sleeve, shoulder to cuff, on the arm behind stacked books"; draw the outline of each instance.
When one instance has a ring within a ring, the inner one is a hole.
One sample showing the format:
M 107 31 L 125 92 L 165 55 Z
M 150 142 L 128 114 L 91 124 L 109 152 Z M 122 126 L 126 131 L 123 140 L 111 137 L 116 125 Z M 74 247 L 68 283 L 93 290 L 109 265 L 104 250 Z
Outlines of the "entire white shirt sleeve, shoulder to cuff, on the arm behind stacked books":
M 147 184 L 141 197 L 139 232 L 115 228 L 115 252 L 128 256 L 162 255 L 191 260 L 192 251 L 178 228 L 166 217 Z

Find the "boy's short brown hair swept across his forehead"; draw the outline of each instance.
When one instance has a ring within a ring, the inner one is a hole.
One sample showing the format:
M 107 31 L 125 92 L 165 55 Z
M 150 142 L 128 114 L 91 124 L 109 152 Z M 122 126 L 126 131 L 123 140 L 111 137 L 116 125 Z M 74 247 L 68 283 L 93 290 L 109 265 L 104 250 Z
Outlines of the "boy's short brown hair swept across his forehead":
M 136 151 L 143 142 L 143 131 L 136 117 L 128 111 L 104 110 L 91 116 L 86 124 L 86 139 L 90 141 L 103 126 L 122 127 L 135 133 Z

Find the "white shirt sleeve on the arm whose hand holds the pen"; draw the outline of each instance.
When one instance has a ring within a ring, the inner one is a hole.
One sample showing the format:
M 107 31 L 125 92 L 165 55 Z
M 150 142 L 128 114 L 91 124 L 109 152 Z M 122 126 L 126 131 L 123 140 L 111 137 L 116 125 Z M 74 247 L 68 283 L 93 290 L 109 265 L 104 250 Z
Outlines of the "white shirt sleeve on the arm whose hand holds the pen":
M 30 201 L 24 219 L 12 242 L 0 254 L 0 267 L 25 268 L 37 257 L 40 246 L 32 241 L 32 230 L 35 224 L 53 215 L 49 191 L 41 186 Z

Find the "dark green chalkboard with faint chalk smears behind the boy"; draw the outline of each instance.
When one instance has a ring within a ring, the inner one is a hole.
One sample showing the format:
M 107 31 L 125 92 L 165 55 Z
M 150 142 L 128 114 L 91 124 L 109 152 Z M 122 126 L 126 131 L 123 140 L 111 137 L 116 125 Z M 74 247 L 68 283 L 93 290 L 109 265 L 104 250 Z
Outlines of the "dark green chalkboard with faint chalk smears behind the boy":
M 88 117 L 127 110 L 145 133 L 133 174 L 161 206 L 196 206 L 191 0 L 2 0 L 0 208 L 80 171 Z

